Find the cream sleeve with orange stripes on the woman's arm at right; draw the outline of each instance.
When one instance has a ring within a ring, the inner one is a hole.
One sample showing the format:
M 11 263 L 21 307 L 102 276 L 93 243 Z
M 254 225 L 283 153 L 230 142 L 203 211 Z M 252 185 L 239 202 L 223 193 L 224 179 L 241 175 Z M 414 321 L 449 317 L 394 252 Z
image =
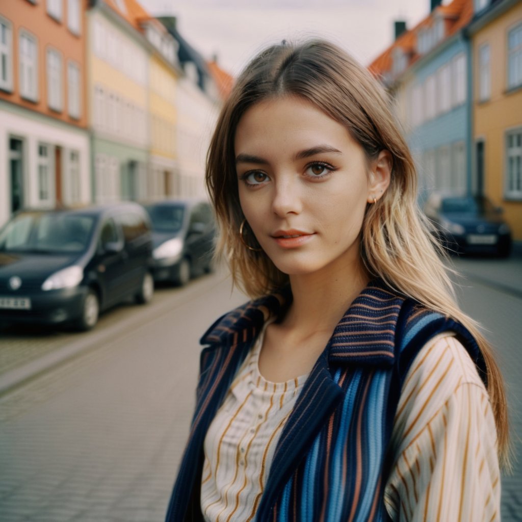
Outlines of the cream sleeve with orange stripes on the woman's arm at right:
M 450 334 L 413 361 L 392 435 L 384 500 L 393 520 L 500 520 L 500 471 L 488 393 Z

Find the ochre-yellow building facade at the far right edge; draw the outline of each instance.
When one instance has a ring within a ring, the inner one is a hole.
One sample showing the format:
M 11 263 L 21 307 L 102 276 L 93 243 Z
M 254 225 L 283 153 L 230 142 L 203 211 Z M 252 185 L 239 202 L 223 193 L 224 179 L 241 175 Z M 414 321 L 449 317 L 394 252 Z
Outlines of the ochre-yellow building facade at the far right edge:
M 522 3 L 499 2 L 469 32 L 474 189 L 504 209 L 522 241 Z

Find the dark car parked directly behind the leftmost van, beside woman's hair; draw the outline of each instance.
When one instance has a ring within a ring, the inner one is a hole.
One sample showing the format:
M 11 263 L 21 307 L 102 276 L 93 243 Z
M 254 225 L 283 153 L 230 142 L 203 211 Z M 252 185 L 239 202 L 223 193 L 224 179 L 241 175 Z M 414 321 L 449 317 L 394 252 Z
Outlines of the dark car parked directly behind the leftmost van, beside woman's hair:
M 207 201 L 168 199 L 144 206 L 152 222 L 156 281 L 183 286 L 211 271 L 216 226 Z

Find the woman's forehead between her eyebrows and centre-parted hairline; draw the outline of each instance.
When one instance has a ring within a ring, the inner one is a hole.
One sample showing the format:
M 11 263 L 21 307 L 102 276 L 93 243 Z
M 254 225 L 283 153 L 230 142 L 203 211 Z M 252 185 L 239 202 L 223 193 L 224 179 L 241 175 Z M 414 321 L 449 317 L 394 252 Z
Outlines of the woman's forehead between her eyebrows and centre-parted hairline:
M 348 129 L 313 103 L 285 96 L 252 105 L 241 117 L 234 137 L 235 154 L 260 148 L 302 148 L 318 144 L 355 146 Z

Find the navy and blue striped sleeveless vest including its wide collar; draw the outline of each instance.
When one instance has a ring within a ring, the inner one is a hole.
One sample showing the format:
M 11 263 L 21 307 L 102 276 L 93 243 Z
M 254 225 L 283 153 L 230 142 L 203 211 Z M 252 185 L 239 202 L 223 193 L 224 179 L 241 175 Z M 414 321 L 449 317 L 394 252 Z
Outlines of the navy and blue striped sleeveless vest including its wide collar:
M 265 316 L 282 314 L 281 302 L 281 295 L 271 295 L 247 303 L 218 319 L 201 338 L 208 346 L 201 352 L 196 410 L 168 522 L 203 520 L 199 495 L 208 426 Z M 462 325 L 379 280 L 361 292 L 336 326 L 283 428 L 257 522 L 389 520 L 383 492 L 393 464 L 387 449 L 400 389 L 419 350 L 445 331 L 456 333 L 485 376 L 477 343 Z

